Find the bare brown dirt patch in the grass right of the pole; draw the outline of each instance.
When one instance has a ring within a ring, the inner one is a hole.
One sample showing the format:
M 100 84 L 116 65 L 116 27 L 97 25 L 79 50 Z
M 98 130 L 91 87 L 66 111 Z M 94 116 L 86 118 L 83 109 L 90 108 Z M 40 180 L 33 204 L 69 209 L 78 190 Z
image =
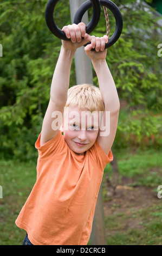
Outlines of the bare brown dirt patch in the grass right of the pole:
M 161 204 L 157 192 L 153 192 L 151 187 L 133 187 L 131 183 L 133 184 L 131 179 L 122 180 L 122 185 L 116 186 L 113 196 L 106 197 L 107 201 L 103 203 L 105 217 L 109 222 L 109 228 L 106 229 L 107 236 L 124 233 L 124 231 L 131 229 L 142 231 L 144 226 L 140 223 L 144 218 L 149 221 L 148 208 L 154 208 L 154 206 Z M 107 191 L 108 189 L 107 187 Z M 113 216 L 114 218 L 112 218 Z M 112 222 L 116 223 L 114 228 L 111 224 L 111 218 Z

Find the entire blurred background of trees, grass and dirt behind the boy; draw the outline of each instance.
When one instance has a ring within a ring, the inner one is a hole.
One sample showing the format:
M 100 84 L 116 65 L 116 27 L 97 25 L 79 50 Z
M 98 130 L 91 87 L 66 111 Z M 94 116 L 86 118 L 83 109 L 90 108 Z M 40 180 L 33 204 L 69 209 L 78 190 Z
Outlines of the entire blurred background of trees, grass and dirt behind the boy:
M 0 245 L 21 245 L 15 225 L 36 180 L 36 139 L 46 112 L 61 40 L 47 28 L 47 0 L 0 3 Z M 162 241 L 161 1 L 116 0 L 124 28 L 107 53 L 120 98 L 114 160 L 103 176 L 107 245 Z M 106 34 L 101 9 L 96 36 Z M 115 20 L 108 12 L 110 35 Z M 89 19 L 92 10 L 88 10 Z M 69 1 L 55 8 L 56 25 L 71 23 Z M 93 81 L 98 86 L 93 70 Z M 70 86 L 76 84 L 72 64 Z

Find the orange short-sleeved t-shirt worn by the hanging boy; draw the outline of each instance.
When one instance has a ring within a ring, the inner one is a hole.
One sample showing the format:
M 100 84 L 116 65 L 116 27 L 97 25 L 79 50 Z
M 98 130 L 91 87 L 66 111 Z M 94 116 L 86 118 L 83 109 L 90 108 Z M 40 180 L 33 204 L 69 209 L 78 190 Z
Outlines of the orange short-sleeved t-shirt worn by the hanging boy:
M 16 225 L 34 245 L 87 245 L 103 169 L 113 160 L 96 141 L 84 155 L 75 154 L 59 131 L 40 147 L 37 180 Z

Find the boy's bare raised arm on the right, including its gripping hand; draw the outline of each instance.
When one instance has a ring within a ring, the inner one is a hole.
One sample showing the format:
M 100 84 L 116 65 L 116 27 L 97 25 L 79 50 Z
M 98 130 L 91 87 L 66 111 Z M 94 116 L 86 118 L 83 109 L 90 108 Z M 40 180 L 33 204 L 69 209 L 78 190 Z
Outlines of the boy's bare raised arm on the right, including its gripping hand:
M 104 49 L 105 42 L 107 41 L 107 36 L 103 36 L 103 38 L 95 38 L 93 36 L 91 45 L 85 47 L 87 55 L 92 59 L 92 64 L 99 81 L 101 96 L 105 104 L 103 124 L 106 126 L 108 132 L 106 130 L 105 132 L 100 130 L 98 142 L 106 154 L 109 153 L 114 142 L 120 109 L 116 86 L 106 63 L 107 50 Z M 95 51 L 91 51 L 92 47 L 95 47 Z M 108 111 L 109 114 L 106 114 Z

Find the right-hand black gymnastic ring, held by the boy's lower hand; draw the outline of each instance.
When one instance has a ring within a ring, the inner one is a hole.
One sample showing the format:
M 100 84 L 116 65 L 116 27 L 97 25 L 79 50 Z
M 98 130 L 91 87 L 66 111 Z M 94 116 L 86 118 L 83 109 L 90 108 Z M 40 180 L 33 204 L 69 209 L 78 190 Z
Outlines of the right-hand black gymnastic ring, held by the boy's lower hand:
M 107 7 L 109 10 L 112 11 L 112 13 L 115 17 L 115 21 L 116 21 L 115 31 L 114 31 L 113 35 L 111 36 L 111 38 L 109 38 L 108 43 L 105 44 L 105 48 L 108 48 L 108 47 L 111 47 L 113 44 L 115 44 L 115 42 L 119 39 L 119 37 L 121 35 L 121 32 L 122 32 L 122 16 L 121 16 L 119 8 L 112 1 L 110 1 L 110 0 L 100 0 L 100 4 L 102 6 Z M 74 17 L 74 23 L 78 24 L 79 22 L 81 22 L 83 14 L 85 14 L 85 12 L 90 7 L 92 7 L 92 4 L 91 4 L 90 0 L 83 3 L 80 6 L 80 8 L 76 11 L 76 14 L 75 14 L 75 17 Z M 90 42 L 88 44 L 90 44 Z

